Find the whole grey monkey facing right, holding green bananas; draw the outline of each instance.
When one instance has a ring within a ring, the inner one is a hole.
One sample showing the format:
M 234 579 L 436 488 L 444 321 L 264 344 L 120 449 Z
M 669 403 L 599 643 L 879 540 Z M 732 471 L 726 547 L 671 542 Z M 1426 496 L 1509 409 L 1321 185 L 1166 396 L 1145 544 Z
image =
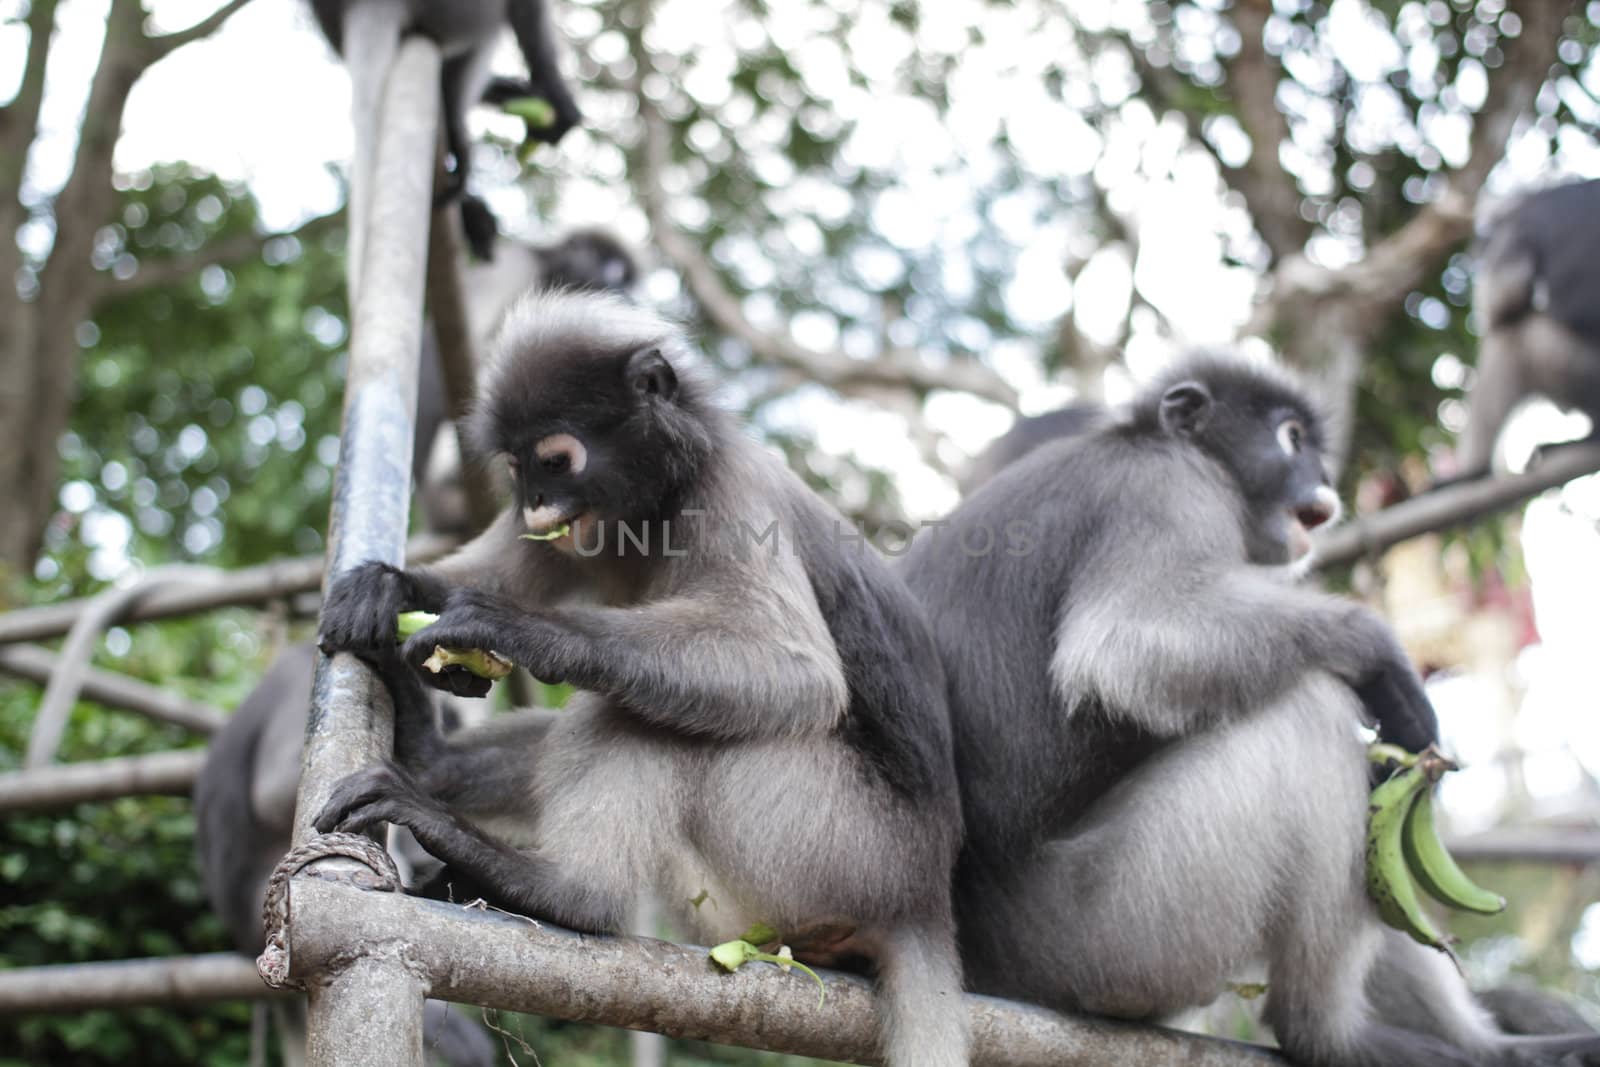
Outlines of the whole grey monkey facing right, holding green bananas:
M 1264 961 L 1298 1062 L 1547 1049 L 1498 1033 L 1411 942 L 1390 955 L 1421 1017 L 1368 1000 L 1384 928 L 1355 726 L 1418 750 L 1437 723 L 1378 616 L 1293 582 L 1338 514 L 1320 427 L 1282 374 L 1190 360 L 912 544 L 950 688 L 968 985 L 1158 1019 Z

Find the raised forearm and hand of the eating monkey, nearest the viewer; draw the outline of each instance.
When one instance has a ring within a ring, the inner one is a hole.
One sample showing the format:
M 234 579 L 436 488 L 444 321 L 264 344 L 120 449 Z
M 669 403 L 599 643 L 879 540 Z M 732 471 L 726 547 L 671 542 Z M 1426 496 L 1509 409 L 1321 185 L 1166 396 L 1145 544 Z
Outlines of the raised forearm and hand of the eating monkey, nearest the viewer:
M 814 601 L 786 601 L 771 587 L 730 589 L 739 593 L 541 613 L 462 590 L 403 654 L 419 664 L 435 645 L 493 648 L 536 678 L 605 693 L 642 718 L 696 736 L 830 729 L 850 693 Z

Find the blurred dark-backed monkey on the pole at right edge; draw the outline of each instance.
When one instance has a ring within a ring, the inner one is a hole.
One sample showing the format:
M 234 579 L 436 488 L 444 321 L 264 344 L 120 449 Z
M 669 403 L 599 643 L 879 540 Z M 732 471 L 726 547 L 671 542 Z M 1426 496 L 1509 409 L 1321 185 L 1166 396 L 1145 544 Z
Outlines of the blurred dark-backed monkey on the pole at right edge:
M 1448 482 L 1490 472 L 1506 418 L 1531 395 L 1582 411 L 1600 437 L 1597 242 L 1600 179 L 1528 194 L 1493 224 L 1474 285 L 1477 381 Z

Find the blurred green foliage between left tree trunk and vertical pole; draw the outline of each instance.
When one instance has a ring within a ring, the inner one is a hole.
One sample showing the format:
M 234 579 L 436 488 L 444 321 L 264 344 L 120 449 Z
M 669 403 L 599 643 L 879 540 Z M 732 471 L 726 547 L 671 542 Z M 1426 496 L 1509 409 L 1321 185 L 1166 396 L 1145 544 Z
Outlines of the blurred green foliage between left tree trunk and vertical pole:
M 259 229 L 238 187 L 141 174 L 107 227 L 112 274 Z M 322 547 L 344 379 L 344 275 L 322 238 L 101 302 L 62 442 L 64 510 L 43 577 L 110 576 L 123 555 L 238 566 Z M 72 589 L 56 587 L 58 595 Z

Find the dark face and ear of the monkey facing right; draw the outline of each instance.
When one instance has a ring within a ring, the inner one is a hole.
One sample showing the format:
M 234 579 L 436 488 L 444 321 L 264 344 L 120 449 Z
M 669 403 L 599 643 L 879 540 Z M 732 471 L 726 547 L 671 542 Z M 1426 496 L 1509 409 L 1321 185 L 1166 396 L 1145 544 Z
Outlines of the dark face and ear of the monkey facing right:
M 1216 381 L 1168 387 L 1162 422 L 1232 475 L 1245 504 L 1251 563 L 1309 561 L 1310 531 L 1339 517 L 1322 456 L 1322 424 L 1286 386 L 1246 368 L 1230 370 Z

